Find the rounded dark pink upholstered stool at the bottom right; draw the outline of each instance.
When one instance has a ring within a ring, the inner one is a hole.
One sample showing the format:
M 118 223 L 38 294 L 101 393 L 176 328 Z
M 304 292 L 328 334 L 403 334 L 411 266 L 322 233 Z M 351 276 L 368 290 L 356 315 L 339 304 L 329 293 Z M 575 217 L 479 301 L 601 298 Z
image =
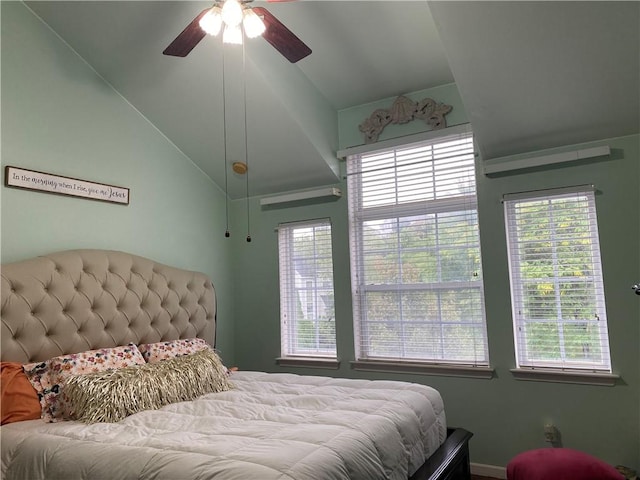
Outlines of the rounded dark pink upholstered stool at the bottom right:
M 515 456 L 508 480 L 624 480 L 611 465 L 570 448 L 540 448 Z

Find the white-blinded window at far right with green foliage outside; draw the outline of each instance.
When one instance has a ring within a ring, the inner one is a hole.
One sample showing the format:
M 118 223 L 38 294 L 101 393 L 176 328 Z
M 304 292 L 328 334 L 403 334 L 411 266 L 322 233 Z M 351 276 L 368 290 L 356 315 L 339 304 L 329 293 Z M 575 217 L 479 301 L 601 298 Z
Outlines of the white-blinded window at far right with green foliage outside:
M 593 188 L 504 200 L 518 367 L 611 372 Z

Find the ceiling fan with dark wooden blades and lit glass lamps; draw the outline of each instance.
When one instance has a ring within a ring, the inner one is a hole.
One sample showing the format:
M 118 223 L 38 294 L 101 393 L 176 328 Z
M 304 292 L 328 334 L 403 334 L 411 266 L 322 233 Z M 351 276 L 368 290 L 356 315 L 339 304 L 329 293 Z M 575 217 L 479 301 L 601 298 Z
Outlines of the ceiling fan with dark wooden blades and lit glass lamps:
M 311 49 L 267 9 L 250 7 L 248 4 L 252 1 L 217 0 L 213 7 L 200 12 L 162 53 L 186 57 L 207 33 L 216 35 L 223 27 L 223 42 L 242 43 L 242 23 L 248 37 L 262 35 L 291 63 L 296 63 L 311 54 Z

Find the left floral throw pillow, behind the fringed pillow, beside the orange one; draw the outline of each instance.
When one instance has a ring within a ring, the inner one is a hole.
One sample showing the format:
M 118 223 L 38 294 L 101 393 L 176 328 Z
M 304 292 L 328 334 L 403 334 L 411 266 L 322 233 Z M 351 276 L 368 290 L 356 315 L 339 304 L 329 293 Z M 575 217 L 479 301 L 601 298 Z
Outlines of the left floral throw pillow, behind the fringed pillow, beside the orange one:
M 88 350 L 50 359 L 48 361 L 48 378 L 44 377 L 43 381 L 43 377 L 41 377 L 43 385 L 42 398 L 44 400 L 42 418 L 47 422 L 68 419 L 66 412 L 69 411 L 69 407 L 65 404 L 62 390 L 64 389 L 65 381 L 72 375 L 103 372 L 105 370 L 144 364 L 144 358 L 134 344 Z

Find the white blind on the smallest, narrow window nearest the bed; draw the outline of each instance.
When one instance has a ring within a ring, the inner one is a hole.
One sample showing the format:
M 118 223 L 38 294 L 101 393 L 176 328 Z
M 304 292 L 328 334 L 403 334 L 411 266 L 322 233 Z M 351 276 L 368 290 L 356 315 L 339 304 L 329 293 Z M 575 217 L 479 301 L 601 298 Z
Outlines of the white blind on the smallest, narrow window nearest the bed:
M 278 227 L 283 357 L 336 357 L 331 223 Z

